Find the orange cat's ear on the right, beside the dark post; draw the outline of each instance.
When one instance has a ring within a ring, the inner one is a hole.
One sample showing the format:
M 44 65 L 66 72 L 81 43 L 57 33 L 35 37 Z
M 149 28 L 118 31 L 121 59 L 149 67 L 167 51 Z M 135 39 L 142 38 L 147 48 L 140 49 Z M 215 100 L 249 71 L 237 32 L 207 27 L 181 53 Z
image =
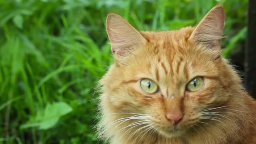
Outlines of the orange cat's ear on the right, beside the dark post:
M 220 48 L 224 22 L 224 9 L 222 5 L 216 5 L 200 21 L 189 39 L 209 48 Z

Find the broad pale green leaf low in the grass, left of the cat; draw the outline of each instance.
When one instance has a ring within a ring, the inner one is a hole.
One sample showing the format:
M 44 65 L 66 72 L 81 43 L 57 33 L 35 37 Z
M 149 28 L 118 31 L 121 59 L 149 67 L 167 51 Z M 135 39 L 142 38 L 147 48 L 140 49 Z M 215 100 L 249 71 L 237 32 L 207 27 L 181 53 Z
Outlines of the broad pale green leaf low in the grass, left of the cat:
M 59 118 L 72 111 L 72 108 L 65 102 L 55 102 L 47 104 L 44 112 L 37 111 L 37 115 L 27 123 L 21 125 L 21 128 L 39 127 L 41 130 L 52 128 L 58 123 Z

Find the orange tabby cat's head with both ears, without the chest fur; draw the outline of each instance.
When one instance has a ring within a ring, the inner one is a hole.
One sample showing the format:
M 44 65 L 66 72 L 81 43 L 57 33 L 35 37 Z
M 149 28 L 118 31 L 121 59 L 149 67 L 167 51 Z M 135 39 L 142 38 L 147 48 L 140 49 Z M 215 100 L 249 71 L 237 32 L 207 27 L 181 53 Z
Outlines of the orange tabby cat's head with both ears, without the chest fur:
M 134 114 L 137 123 L 172 137 L 200 126 L 210 106 L 229 99 L 226 78 L 235 74 L 221 56 L 221 5 L 197 27 L 139 32 L 113 13 L 106 27 L 115 64 L 101 80 L 102 109 Z

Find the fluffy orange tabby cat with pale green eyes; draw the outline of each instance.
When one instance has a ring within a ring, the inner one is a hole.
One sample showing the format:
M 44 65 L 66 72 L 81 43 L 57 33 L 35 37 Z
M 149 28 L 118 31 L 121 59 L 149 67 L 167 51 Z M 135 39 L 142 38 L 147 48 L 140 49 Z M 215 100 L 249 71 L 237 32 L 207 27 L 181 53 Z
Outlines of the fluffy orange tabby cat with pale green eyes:
M 256 144 L 256 101 L 221 55 L 224 8 L 196 27 L 137 31 L 110 13 L 114 57 L 99 81 L 99 139 L 111 144 Z

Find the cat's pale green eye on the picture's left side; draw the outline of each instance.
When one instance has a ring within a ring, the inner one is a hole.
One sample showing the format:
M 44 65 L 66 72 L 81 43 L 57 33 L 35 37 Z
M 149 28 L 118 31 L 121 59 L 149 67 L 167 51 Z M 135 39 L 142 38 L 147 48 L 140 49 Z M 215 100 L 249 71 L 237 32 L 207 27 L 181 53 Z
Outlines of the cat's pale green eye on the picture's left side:
M 143 79 L 140 82 L 141 88 L 143 91 L 147 93 L 155 93 L 158 90 L 157 84 L 149 79 Z

